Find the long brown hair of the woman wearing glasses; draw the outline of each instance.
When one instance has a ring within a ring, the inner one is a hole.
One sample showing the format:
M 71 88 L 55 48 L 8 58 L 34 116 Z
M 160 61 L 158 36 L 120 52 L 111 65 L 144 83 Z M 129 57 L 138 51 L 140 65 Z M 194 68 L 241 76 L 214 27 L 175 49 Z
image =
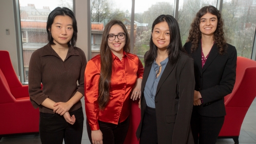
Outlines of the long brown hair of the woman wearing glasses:
M 98 103 L 101 110 L 103 110 L 108 104 L 110 91 L 111 91 L 111 74 L 113 59 L 112 53 L 108 46 L 108 34 L 112 26 L 119 25 L 125 32 L 125 46 L 124 51 L 130 52 L 130 37 L 125 25 L 120 20 L 110 20 L 110 22 L 105 26 L 102 34 L 102 43 L 100 48 L 101 54 L 101 74 L 99 79 L 99 97 Z M 116 37 L 117 38 L 117 37 Z

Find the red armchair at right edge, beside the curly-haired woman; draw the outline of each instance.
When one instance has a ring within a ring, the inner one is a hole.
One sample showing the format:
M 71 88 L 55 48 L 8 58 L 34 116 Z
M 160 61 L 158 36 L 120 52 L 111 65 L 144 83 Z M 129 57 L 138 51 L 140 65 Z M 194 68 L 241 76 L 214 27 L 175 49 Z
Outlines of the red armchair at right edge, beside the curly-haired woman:
M 244 117 L 256 96 L 256 61 L 238 56 L 237 77 L 231 94 L 225 96 L 227 115 L 219 138 L 233 138 L 239 143 Z

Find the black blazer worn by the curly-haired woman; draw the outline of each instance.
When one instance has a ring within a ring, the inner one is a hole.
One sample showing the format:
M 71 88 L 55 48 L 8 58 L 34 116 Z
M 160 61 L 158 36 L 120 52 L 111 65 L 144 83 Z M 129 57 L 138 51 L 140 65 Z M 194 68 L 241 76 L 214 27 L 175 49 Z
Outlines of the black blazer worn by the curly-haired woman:
M 201 43 L 191 53 L 191 42 L 184 45 L 186 51 L 194 59 L 195 90 L 202 95 L 203 105 L 194 106 L 193 112 L 202 116 L 225 116 L 224 96 L 231 93 L 235 82 L 237 68 L 237 50 L 229 44 L 224 54 L 219 54 L 214 44 L 202 69 Z

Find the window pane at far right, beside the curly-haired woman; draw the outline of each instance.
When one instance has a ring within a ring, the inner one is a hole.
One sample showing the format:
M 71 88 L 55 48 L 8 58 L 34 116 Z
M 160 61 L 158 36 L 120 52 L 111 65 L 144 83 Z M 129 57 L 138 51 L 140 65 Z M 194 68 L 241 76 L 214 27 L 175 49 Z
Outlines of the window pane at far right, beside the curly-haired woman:
M 224 0 L 222 15 L 227 43 L 237 48 L 238 56 L 251 58 L 256 27 L 256 1 Z

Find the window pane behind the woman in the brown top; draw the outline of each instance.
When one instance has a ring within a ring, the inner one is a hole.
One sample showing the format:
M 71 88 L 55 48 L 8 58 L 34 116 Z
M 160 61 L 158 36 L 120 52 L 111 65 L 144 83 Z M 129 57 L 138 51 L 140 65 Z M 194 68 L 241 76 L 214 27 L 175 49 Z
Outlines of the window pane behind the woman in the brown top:
M 31 54 L 48 43 L 46 22 L 56 7 L 73 10 L 73 0 L 19 0 L 25 82 L 28 81 Z

